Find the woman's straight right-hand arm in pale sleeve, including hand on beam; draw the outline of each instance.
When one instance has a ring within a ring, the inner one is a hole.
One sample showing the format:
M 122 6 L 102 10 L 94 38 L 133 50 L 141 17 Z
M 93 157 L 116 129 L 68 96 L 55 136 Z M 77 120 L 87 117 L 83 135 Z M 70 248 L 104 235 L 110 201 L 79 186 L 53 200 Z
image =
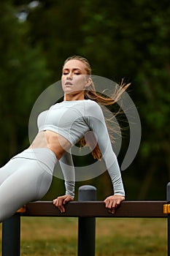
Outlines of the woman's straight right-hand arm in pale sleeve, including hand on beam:
M 104 200 L 105 206 L 109 208 L 112 213 L 115 212 L 115 208 L 125 200 L 125 191 L 123 188 L 123 181 L 120 173 L 120 167 L 117 162 L 117 157 L 112 150 L 112 144 L 107 131 L 107 126 L 104 120 L 104 114 L 100 106 L 96 103 L 93 104 L 93 108 L 90 108 L 88 113 L 88 124 L 93 131 L 98 146 L 101 150 L 102 158 L 104 159 L 107 171 L 112 180 L 112 186 L 114 195 L 107 197 Z

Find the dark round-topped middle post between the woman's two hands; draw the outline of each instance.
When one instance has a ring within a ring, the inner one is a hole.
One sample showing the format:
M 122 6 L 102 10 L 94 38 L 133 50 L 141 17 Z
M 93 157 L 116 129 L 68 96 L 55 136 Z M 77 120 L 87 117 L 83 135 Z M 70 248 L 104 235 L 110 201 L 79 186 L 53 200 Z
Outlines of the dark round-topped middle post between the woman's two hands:
M 96 187 L 85 185 L 79 188 L 79 201 L 96 200 Z M 96 239 L 96 218 L 79 217 L 78 256 L 94 256 Z

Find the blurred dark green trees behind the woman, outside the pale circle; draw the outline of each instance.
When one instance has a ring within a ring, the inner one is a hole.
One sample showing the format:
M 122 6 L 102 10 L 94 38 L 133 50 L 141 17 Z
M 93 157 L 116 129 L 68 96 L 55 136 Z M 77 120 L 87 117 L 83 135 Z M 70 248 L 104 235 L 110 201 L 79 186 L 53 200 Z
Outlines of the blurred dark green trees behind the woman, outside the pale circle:
M 131 82 L 142 141 L 122 173 L 127 199 L 165 199 L 170 178 L 169 1 L 8 0 L 0 13 L 0 164 L 28 146 L 36 98 L 60 80 L 63 61 L 78 54 L 90 61 L 94 75 Z M 127 146 L 125 138 L 120 162 Z M 83 183 L 94 184 L 103 199 L 112 193 L 109 182 L 104 173 Z M 62 192 L 63 181 L 55 178 L 47 197 Z

